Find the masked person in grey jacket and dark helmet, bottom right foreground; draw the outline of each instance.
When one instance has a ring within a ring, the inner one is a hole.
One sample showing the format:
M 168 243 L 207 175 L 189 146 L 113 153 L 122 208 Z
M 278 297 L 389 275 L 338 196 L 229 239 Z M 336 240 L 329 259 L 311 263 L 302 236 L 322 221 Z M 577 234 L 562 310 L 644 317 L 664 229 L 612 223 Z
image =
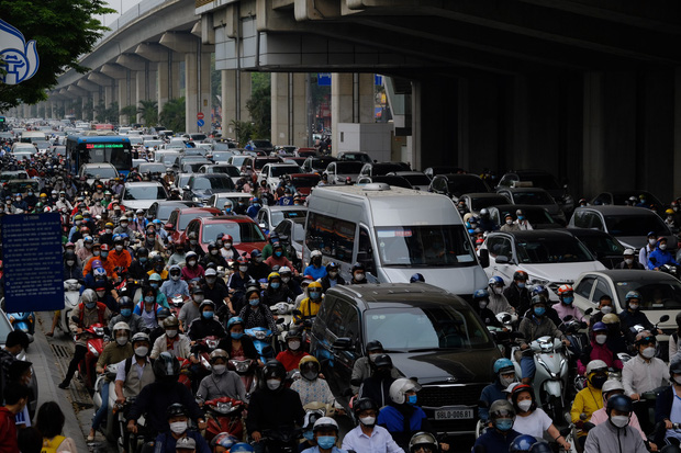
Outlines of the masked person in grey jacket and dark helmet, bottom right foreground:
M 634 405 L 625 395 L 614 395 L 607 400 L 607 423 L 601 423 L 589 431 L 585 453 L 640 453 L 646 450 L 644 440 L 629 426 Z

